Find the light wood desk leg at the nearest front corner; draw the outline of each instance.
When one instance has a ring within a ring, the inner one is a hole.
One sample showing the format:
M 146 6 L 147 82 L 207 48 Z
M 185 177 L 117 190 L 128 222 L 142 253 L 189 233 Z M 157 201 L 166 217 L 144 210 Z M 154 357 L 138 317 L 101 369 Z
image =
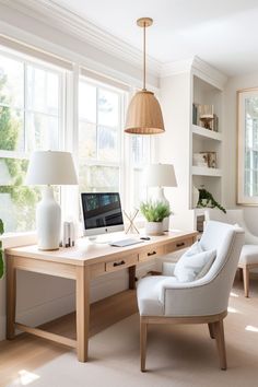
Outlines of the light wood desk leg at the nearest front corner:
M 87 361 L 90 325 L 90 272 L 87 267 L 77 267 L 77 351 L 79 362 Z

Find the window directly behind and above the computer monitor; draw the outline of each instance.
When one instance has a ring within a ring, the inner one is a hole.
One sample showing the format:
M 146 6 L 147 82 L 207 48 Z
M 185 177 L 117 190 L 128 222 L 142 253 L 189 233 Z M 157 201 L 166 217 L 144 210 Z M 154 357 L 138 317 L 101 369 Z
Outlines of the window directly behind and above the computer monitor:
M 118 191 L 121 174 L 122 93 L 81 79 L 79 179 L 81 191 Z

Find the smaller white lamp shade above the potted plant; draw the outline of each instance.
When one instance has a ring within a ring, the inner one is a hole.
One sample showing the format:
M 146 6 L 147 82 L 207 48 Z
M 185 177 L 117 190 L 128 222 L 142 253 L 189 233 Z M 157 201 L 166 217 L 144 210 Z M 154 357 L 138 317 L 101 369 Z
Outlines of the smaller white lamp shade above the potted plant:
M 149 187 L 177 187 L 175 169 L 172 164 L 150 164 L 145 174 Z

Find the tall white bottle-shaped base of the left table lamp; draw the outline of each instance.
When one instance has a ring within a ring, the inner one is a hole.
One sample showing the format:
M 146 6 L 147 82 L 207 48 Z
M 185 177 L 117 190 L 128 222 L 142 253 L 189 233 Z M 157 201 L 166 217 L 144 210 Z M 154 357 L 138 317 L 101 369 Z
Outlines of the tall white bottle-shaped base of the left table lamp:
M 54 198 L 52 187 L 43 188 L 36 210 L 37 238 L 40 250 L 58 250 L 61 230 L 61 209 Z

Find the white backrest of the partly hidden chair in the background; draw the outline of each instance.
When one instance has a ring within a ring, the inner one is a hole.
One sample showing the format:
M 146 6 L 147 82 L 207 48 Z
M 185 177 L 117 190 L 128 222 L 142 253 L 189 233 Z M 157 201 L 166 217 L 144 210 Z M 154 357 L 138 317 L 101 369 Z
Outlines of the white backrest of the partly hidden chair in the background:
M 221 210 L 209 209 L 204 211 L 207 221 L 219 221 L 228 224 L 238 224 L 245 231 L 245 244 L 258 244 L 258 237 L 251 234 L 245 223 L 244 211 L 242 209 L 226 210 L 226 213 Z

